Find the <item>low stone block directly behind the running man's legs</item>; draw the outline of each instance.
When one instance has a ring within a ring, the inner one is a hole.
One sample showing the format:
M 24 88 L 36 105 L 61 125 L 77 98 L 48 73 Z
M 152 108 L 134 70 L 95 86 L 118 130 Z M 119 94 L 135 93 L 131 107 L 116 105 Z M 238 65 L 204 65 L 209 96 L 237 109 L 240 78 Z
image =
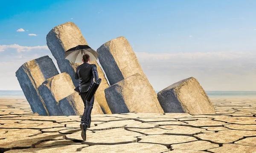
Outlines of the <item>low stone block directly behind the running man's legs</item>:
M 74 92 L 59 101 L 59 107 L 63 115 L 83 115 L 84 102 L 78 92 Z M 93 110 L 91 114 L 103 114 L 99 103 L 94 99 Z

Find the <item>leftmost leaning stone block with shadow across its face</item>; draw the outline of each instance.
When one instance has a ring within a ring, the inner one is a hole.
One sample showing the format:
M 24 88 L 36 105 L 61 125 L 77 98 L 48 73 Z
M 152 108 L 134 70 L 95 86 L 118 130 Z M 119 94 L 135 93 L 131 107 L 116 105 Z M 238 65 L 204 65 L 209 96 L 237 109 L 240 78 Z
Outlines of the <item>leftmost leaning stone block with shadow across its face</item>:
M 44 100 L 38 92 L 38 87 L 46 79 L 57 74 L 58 70 L 52 59 L 48 56 L 26 62 L 16 71 L 16 77 L 20 83 L 20 87 L 34 113 L 49 115 Z

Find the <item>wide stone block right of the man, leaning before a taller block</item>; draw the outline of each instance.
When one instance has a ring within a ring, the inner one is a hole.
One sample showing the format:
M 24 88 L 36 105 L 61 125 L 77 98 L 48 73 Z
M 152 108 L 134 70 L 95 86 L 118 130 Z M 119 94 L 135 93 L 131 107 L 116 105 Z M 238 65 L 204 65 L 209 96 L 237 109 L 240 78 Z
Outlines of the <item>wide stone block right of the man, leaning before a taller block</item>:
M 136 73 L 105 89 L 112 113 L 163 113 L 148 79 Z

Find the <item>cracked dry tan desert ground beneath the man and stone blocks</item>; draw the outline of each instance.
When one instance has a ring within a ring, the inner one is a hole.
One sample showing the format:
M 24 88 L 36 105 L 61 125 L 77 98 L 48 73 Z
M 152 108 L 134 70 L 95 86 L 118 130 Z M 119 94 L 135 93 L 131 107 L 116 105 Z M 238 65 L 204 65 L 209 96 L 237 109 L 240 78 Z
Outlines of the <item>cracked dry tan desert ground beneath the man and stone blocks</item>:
M 215 115 L 92 115 L 83 141 L 80 116 L 38 116 L 26 99 L 0 99 L 0 152 L 256 152 L 256 99 L 212 99 L 212 103 Z

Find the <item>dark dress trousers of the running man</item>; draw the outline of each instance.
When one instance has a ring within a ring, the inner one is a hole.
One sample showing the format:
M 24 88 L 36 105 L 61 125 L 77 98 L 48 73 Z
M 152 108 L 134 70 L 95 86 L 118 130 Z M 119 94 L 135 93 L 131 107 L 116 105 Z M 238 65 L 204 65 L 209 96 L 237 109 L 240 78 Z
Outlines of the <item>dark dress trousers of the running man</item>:
M 87 95 L 87 92 L 80 93 L 80 96 L 84 102 L 84 113 L 81 116 L 81 123 L 84 123 L 86 125 L 86 127 L 88 127 L 88 125 L 90 125 L 90 123 L 91 123 L 91 113 L 92 113 L 92 109 L 93 109 L 94 95 L 93 95 L 92 99 L 90 100 L 90 102 L 85 100 L 86 95 Z

